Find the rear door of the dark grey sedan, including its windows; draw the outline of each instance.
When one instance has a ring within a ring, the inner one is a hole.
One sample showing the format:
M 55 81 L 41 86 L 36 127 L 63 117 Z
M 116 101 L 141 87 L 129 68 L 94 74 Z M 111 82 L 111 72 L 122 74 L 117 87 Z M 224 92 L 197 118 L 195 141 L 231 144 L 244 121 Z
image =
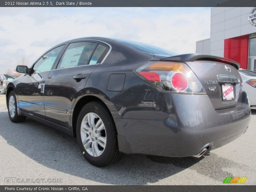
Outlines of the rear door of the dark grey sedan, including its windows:
M 49 121 L 69 126 L 71 108 L 76 97 L 108 49 L 108 46 L 93 41 L 68 45 L 56 69 L 45 80 L 44 108 Z

